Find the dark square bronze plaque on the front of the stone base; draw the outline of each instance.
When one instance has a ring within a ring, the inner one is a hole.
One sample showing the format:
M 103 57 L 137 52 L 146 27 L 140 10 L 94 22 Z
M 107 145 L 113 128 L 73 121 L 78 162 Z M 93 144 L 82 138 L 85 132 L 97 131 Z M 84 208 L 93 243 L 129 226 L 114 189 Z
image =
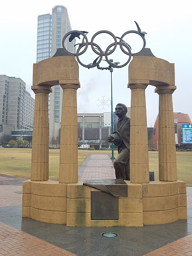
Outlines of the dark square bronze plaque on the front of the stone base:
M 118 220 L 119 198 L 102 191 L 91 191 L 91 220 Z

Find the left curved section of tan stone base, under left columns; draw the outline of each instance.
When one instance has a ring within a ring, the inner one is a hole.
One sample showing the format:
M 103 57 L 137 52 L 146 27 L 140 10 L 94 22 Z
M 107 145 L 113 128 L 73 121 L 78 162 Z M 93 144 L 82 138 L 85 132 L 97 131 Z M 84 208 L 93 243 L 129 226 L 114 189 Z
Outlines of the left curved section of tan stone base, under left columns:
M 67 184 L 52 180 L 23 182 L 22 217 L 66 224 L 66 207 Z

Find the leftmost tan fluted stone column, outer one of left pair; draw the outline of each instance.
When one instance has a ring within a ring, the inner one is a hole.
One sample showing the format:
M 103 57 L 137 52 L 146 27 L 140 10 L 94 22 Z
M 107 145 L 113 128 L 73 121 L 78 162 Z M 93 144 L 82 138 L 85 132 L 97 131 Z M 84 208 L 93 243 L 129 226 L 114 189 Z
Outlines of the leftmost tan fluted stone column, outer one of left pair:
M 49 113 L 48 85 L 34 85 L 35 110 L 33 121 L 31 180 L 49 180 Z

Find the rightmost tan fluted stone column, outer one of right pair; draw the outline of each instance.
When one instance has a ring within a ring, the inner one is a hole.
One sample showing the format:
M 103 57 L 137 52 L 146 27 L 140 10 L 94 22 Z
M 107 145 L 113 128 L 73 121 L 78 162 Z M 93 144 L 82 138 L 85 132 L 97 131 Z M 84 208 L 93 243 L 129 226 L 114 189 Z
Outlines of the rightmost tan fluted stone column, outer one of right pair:
M 157 86 L 159 94 L 159 180 L 177 180 L 172 93 L 176 86 Z

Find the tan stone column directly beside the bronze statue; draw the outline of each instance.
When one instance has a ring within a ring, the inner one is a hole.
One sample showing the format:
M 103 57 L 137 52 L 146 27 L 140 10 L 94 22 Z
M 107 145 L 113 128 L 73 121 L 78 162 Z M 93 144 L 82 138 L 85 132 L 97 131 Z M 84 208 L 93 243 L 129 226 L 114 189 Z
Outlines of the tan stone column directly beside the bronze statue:
M 145 89 L 148 84 L 131 84 L 130 181 L 148 183 L 148 134 Z

